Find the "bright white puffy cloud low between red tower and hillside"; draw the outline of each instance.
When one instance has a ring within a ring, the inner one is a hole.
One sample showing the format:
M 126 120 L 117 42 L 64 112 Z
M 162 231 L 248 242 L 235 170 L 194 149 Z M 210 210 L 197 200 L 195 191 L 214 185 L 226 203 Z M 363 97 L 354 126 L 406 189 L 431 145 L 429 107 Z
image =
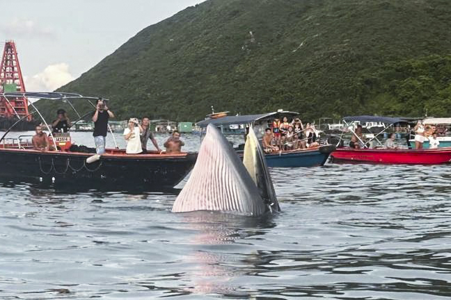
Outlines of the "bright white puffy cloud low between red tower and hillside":
M 34 76 L 24 76 L 25 88 L 29 92 L 52 92 L 73 80 L 66 63 L 49 65 Z

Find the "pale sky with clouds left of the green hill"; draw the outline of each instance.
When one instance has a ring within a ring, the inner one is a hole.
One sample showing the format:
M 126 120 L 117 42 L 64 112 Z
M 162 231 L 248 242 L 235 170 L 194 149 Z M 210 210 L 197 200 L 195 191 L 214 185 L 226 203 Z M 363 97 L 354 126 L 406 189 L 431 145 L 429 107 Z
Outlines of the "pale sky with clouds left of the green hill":
M 53 91 L 143 28 L 203 1 L 0 0 L 0 47 L 15 41 L 27 91 Z

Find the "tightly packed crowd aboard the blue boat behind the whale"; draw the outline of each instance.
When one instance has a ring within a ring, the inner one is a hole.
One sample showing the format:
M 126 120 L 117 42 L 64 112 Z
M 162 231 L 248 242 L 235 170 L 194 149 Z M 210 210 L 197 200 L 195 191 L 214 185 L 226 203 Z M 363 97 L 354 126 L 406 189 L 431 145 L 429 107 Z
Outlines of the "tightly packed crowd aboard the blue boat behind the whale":
M 262 146 L 265 152 L 293 151 L 319 147 L 315 125 L 303 125 L 301 119 L 291 121 L 283 117 L 282 121 L 276 118 L 268 122 L 264 131 Z

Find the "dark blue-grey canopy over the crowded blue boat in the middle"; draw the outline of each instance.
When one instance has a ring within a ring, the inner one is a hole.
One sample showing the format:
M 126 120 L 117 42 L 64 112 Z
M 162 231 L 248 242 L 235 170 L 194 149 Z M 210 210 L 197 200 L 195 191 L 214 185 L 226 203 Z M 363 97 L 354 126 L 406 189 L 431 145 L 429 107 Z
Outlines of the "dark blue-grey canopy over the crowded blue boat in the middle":
M 295 117 L 299 115 L 299 113 L 294 113 L 290 111 L 281 111 L 274 113 L 266 113 L 260 115 L 238 115 L 238 116 L 227 116 L 221 117 L 218 119 L 205 119 L 203 121 L 198 122 L 196 125 L 199 127 L 207 127 L 208 124 L 213 124 L 214 126 L 227 126 L 227 125 L 239 125 L 239 124 L 253 124 L 262 119 L 267 118 L 276 118 L 276 117 Z

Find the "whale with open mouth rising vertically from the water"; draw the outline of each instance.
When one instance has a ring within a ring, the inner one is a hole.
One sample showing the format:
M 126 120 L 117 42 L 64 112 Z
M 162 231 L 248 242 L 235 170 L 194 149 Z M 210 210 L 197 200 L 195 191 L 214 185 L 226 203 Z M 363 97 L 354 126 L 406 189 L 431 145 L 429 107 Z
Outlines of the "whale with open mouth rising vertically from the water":
M 280 211 L 258 138 L 249 128 L 243 161 L 216 126 L 209 124 L 191 176 L 173 213 L 214 211 L 260 216 Z

